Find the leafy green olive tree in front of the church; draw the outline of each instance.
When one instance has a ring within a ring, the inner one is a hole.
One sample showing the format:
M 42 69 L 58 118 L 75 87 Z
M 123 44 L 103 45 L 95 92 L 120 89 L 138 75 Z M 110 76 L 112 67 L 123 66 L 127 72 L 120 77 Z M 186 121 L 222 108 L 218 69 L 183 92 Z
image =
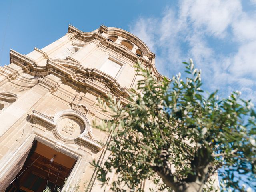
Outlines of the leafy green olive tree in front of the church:
M 201 70 L 193 61 L 184 62 L 186 76 L 172 81 L 159 79 L 138 62 L 143 80 L 124 104 L 110 96 L 99 99 L 112 113 L 112 119 L 94 125 L 111 133 L 107 148 L 111 152 L 98 168 L 98 179 L 109 184 L 108 172 L 118 178 L 113 191 L 126 188 L 140 191 L 145 179 L 156 190 L 201 192 L 214 190 L 211 176 L 218 170 L 222 190 L 255 189 L 256 121 L 252 103 L 232 92 L 218 98 L 217 91 L 205 93 Z

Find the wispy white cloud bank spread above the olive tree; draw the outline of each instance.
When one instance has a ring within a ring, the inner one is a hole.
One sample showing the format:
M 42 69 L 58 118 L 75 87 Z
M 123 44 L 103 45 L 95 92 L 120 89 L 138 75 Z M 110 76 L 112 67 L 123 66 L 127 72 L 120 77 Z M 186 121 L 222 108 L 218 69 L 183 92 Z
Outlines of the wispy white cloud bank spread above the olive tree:
M 156 53 L 158 70 L 171 77 L 193 58 L 209 91 L 243 90 L 256 102 L 256 12 L 244 11 L 240 0 L 180 0 L 178 7 L 130 26 Z M 228 44 L 226 54 L 218 42 Z

